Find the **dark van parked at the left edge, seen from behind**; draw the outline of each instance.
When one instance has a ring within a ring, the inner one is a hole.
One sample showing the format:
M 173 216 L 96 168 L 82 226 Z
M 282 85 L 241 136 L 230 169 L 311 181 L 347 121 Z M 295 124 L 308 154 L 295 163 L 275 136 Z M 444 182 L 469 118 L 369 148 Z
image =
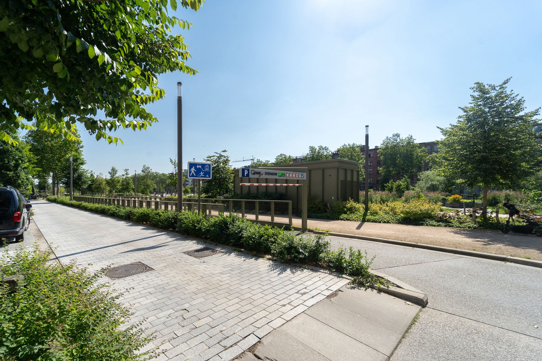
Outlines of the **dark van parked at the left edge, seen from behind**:
M 0 238 L 24 240 L 24 231 L 30 225 L 31 207 L 17 189 L 0 187 Z

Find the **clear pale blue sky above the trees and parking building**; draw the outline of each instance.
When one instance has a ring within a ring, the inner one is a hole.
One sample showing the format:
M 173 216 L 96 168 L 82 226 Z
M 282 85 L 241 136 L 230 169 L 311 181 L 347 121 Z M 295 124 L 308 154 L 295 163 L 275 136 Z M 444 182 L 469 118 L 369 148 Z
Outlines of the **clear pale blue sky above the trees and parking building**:
M 177 152 L 176 84 L 183 82 L 183 163 L 227 149 L 232 160 L 301 155 L 385 136 L 440 139 L 474 82 L 500 83 L 542 106 L 540 1 L 236 1 L 177 9 L 197 76 L 163 74 L 159 123 L 83 134 L 87 167 L 171 172 Z M 179 31 L 179 29 L 177 29 Z M 82 132 L 84 133 L 84 132 Z M 233 163 L 235 166 L 249 162 Z

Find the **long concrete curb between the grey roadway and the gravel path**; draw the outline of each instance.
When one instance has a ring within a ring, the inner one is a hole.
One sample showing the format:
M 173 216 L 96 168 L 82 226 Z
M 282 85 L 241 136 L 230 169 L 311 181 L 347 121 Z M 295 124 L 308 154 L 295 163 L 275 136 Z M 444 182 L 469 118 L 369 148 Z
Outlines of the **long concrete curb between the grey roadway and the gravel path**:
M 299 228 L 299 227 L 294 227 L 294 229 L 296 231 L 301 231 L 301 228 Z M 407 242 L 407 241 L 397 241 L 397 240 L 385 239 L 385 238 L 367 237 L 365 235 L 358 235 L 358 234 L 345 234 L 345 233 L 334 233 L 334 232 L 324 232 L 324 231 L 313 231 L 312 229 L 308 229 L 307 232 L 311 232 L 311 233 L 314 233 L 314 234 L 331 235 L 331 236 L 334 236 L 334 237 L 353 238 L 353 239 L 361 239 L 361 240 L 364 240 L 364 241 L 387 243 L 387 244 L 397 245 L 397 246 L 422 248 L 423 250 L 431 250 L 431 251 L 438 251 L 438 252 L 446 252 L 446 253 L 453 253 L 453 254 L 468 255 L 470 257 L 477 257 L 477 258 L 483 258 L 483 259 L 492 259 L 492 260 L 495 260 L 495 261 L 511 262 L 511 263 L 517 263 L 517 264 L 525 265 L 525 266 L 542 268 L 542 261 L 537 261 L 537 260 L 534 260 L 534 259 L 526 259 L 526 258 L 506 256 L 506 255 L 502 255 L 502 254 L 493 254 L 493 253 L 468 251 L 468 250 L 458 250 L 457 248 L 441 247 L 441 246 L 427 245 L 427 244 L 423 244 L 423 243 L 414 243 L 414 242 Z

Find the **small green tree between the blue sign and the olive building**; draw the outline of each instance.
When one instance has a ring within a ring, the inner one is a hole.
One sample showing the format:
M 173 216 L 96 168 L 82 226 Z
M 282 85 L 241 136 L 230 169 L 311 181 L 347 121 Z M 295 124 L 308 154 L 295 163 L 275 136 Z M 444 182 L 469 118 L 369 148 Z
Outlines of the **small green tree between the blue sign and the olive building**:
M 230 157 L 223 154 L 228 150 L 215 155 L 205 157 L 206 162 L 212 163 L 212 179 L 205 180 L 202 192 L 208 194 L 210 198 L 220 198 L 230 196 L 234 193 L 234 174 L 230 167 Z

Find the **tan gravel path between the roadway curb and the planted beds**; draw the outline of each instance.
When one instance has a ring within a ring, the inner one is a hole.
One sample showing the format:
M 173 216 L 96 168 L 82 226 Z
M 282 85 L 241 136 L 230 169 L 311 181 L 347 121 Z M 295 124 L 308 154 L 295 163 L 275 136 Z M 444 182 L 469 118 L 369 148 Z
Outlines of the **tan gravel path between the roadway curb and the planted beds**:
M 294 226 L 301 226 L 295 217 Z M 542 260 L 542 238 L 496 230 L 309 219 L 309 228 Z

